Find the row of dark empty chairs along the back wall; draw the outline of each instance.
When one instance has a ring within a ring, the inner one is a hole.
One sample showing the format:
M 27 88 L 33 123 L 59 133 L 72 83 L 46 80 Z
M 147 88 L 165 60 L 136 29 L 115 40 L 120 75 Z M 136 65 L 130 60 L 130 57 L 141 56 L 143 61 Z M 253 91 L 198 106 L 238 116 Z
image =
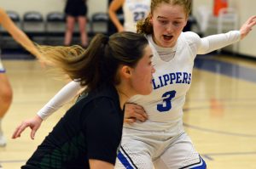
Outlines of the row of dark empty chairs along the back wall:
M 66 17 L 62 12 L 49 12 L 45 16 L 38 11 L 27 11 L 22 16 L 15 11 L 7 11 L 9 17 L 21 31 L 39 44 L 62 45 L 66 31 Z M 123 15 L 118 15 L 123 20 Z M 108 34 L 108 13 L 92 14 L 87 19 L 86 31 L 89 38 L 96 33 Z M 79 25 L 76 23 L 73 32 L 74 42 L 79 42 Z M 0 26 L 0 47 L 21 48 L 20 44 L 9 36 L 9 33 Z

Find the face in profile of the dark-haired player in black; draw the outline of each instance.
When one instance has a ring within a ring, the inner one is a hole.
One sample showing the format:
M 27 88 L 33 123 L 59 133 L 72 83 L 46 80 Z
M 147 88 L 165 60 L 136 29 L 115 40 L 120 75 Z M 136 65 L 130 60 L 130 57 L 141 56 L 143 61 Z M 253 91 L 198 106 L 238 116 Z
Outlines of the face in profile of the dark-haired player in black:
M 137 63 L 137 66 L 131 70 L 131 86 L 137 94 L 149 94 L 152 92 L 152 74 L 154 66 L 152 65 L 152 50 L 149 45 L 144 48 L 143 58 Z

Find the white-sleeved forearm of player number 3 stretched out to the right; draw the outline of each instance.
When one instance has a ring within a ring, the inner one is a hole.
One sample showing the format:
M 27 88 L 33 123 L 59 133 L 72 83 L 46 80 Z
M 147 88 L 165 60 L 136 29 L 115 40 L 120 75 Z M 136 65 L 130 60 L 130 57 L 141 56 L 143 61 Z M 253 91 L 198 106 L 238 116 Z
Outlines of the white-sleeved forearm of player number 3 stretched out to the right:
M 223 34 L 212 35 L 201 39 L 198 54 L 207 54 L 219 48 L 224 48 L 241 39 L 240 31 L 229 31 Z

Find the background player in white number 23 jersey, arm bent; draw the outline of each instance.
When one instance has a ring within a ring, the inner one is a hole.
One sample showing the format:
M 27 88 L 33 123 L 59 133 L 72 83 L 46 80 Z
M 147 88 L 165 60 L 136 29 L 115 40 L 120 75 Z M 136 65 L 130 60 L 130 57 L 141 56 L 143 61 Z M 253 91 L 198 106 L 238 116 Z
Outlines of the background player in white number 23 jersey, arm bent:
M 150 11 L 151 0 L 113 0 L 108 8 L 108 14 L 118 31 L 136 32 L 138 20 L 143 20 Z M 124 25 L 117 17 L 116 11 L 123 7 Z

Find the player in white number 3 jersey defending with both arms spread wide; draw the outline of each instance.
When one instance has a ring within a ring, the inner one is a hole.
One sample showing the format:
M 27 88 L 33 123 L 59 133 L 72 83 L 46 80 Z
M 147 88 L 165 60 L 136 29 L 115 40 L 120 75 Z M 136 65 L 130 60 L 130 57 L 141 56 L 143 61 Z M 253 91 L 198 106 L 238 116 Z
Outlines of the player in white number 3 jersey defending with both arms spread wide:
M 116 168 L 207 168 L 183 130 L 183 104 L 192 82 L 194 59 L 196 54 L 207 54 L 246 37 L 256 24 L 256 16 L 249 18 L 240 31 L 201 38 L 193 32 L 182 32 L 190 8 L 189 0 L 152 0 L 150 15 L 138 24 L 137 31 L 147 36 L 154 51 L 154 91 L 146 97 L 131 98 L 132 109 L 125 107 L 127 113 L 141 106 L 148 121 L 125 124 Z M 68 85 L 66 89 L 78 87 L 74 82 Z M 61 95 L 58 93 L 58 97 Z M 52 99 L 46 107 L 53 111 L 59 100 Z M 14 138 L 28 126 L 33 127 L 34 134 L 40 125 L 35 119 L 42 121 L 47 115 L 44 108 L 37 117 L 21 123 Z

